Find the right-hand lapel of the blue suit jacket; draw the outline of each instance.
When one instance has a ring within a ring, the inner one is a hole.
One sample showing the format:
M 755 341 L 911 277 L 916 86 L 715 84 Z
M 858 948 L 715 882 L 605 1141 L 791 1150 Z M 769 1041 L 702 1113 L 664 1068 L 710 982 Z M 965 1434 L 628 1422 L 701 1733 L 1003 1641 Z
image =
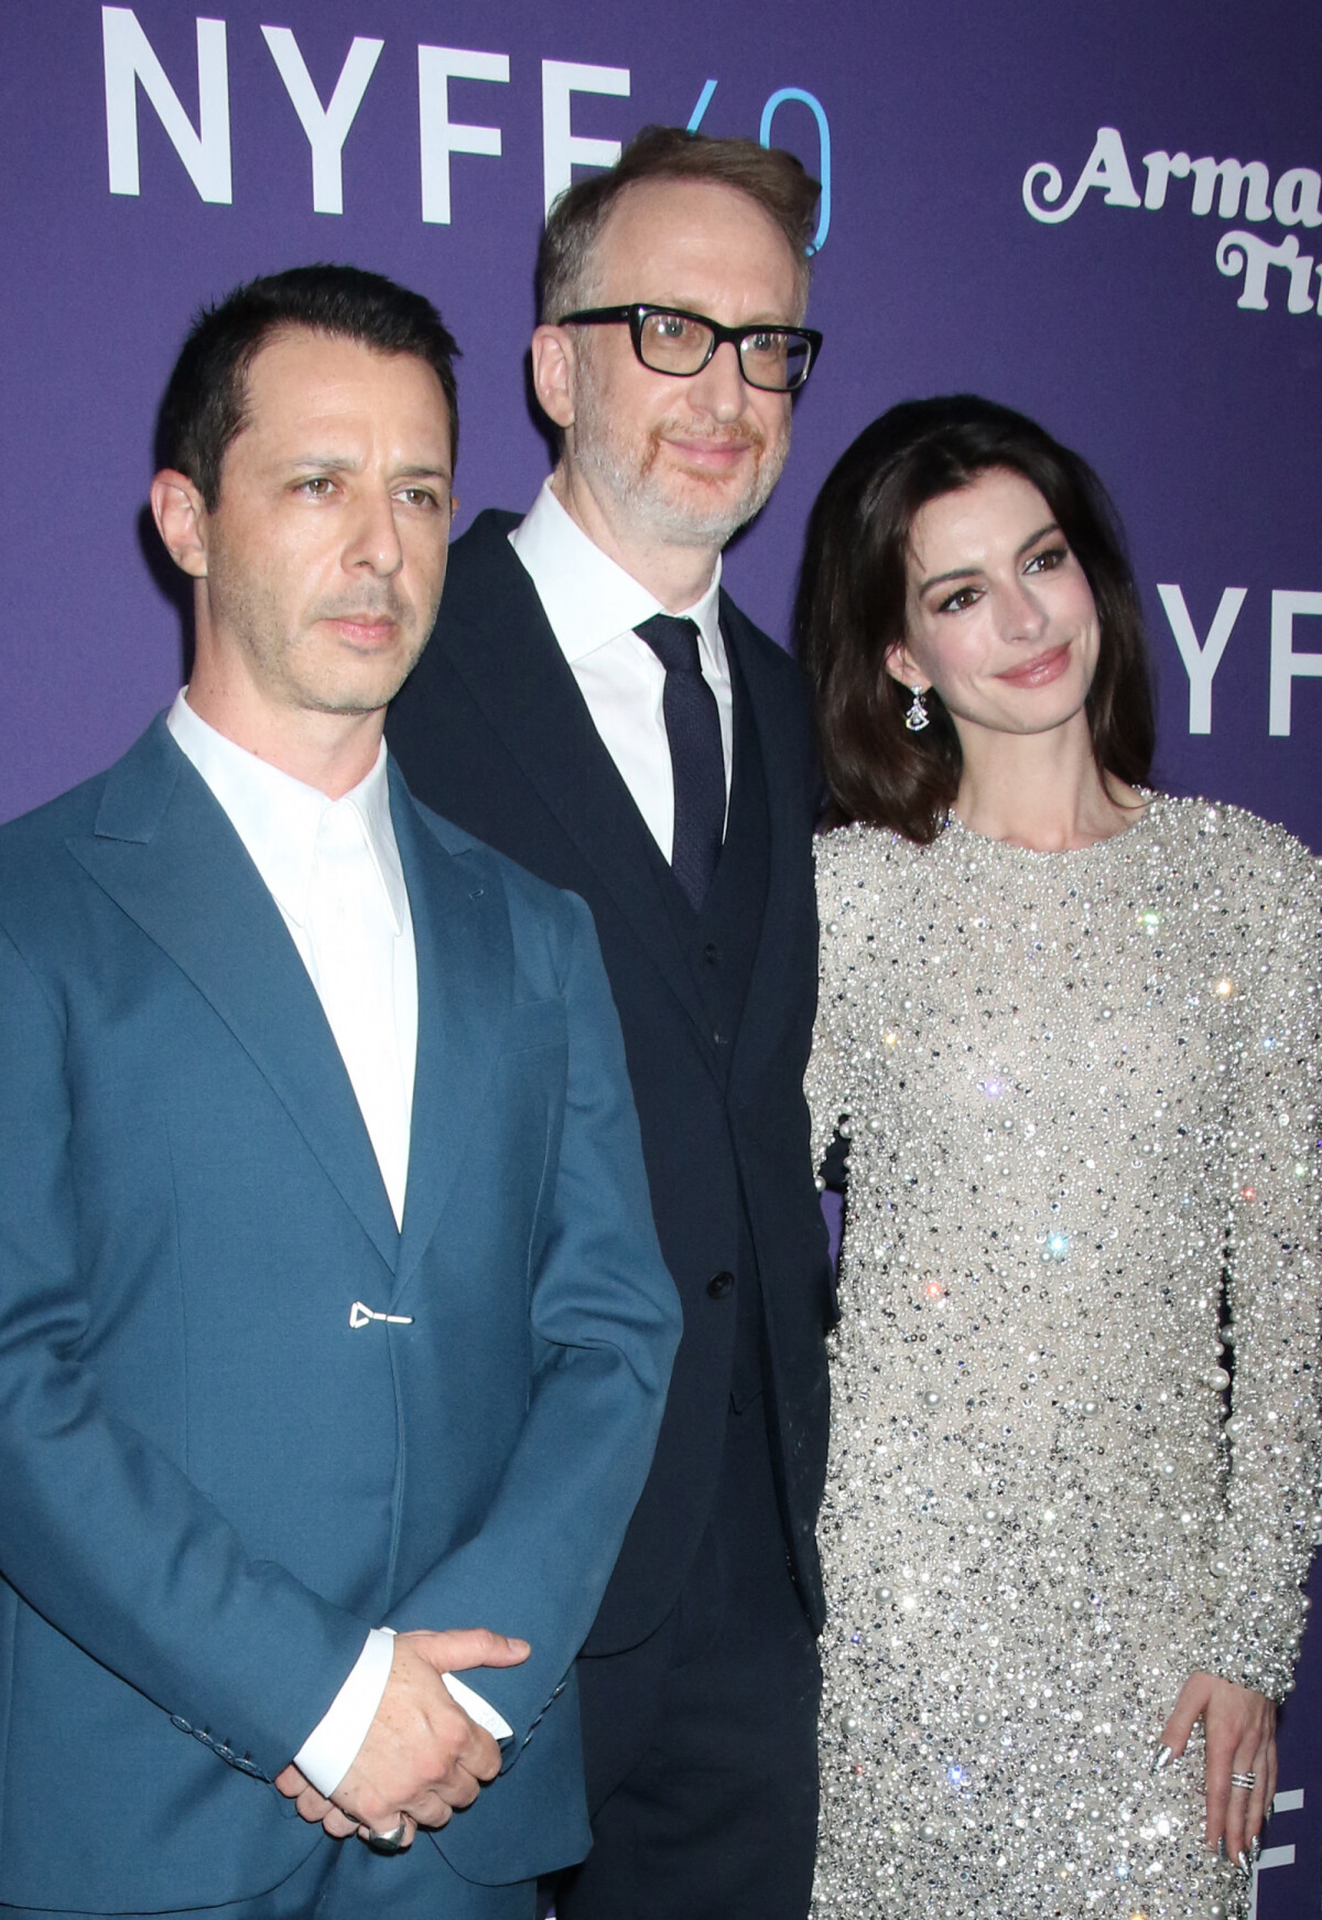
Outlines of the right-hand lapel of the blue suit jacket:
M 484 1135 L 487 1085 L 512 996 L 512 950 L 499 891 L 480 877 L 476 862 L 441 847 L 393 762 L 390 810 L 418 954 L 418 1058 L 397 1298 Z

